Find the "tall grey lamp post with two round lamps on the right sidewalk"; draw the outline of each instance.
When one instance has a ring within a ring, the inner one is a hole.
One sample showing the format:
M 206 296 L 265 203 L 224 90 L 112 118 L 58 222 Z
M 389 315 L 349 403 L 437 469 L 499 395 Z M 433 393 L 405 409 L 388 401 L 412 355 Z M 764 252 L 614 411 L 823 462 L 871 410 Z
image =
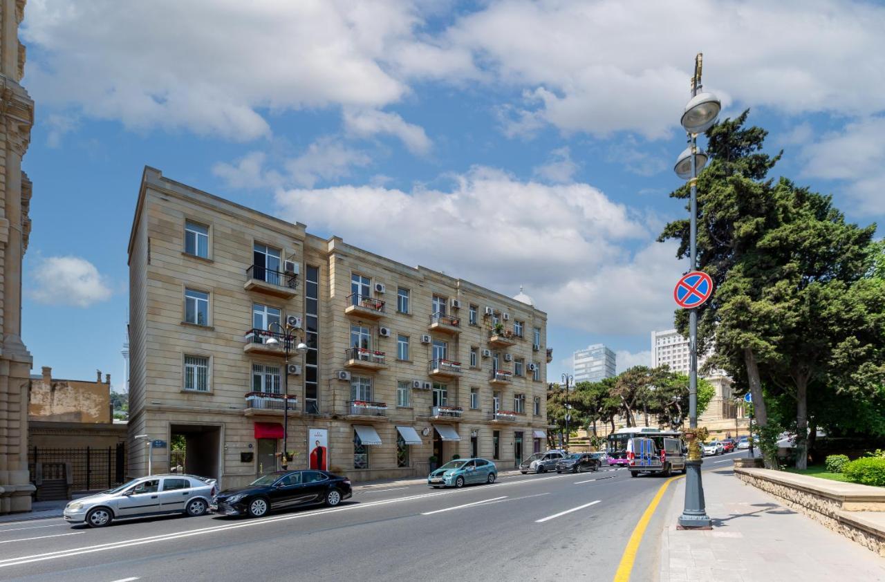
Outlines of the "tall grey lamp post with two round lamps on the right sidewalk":
M 721 104 L 712 93 L 701 91 L 703 56 L 695 57 L 695 74 L 691 78 L 691 99 L 682 113 L 681 124 L 689 137 L 689 147 L 680 155 L 674 168 L 683 180 L 689 180 L 689 261 L 690 271 L 697 268 L 697 172 L 707 162 L 707 156 L 697 149 L 697 134 L 716 123 Z M 704 484 L 701 482 L 701 464 L 704 462 L 697 439 L 697 310 L 689 310 L 689 458 L 686 462 L 685 507 L 679 517 L 683 529 L 709 528 L 704 502 Z

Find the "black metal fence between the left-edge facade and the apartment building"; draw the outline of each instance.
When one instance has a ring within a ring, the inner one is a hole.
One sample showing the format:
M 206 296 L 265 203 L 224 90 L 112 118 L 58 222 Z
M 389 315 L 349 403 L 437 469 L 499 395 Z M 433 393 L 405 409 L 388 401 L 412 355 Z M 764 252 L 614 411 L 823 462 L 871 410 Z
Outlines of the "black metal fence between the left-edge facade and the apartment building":
M 74 491 L 110 489 L 123 482 L 126 446 L 108 448 L 29 448 L 27 468 L 34 481 L 36 463 L 70 463 Z

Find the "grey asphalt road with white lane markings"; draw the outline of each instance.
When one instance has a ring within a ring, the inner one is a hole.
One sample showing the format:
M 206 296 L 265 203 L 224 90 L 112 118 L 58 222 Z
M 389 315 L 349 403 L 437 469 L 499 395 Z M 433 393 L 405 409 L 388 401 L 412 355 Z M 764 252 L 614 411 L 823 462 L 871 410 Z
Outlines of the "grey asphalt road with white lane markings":
M 745 452 L 706 459 L 704 469 Z M 0 580 L 611 580 L 656 476 L 516 475 L 494 485 L 356 487 L 334 509 L 157 517 L 100 529 L 0 525 Z M 659 519 L 656 516 L 656 519 Z M 655 524 L 633 579 L 657 576 Z

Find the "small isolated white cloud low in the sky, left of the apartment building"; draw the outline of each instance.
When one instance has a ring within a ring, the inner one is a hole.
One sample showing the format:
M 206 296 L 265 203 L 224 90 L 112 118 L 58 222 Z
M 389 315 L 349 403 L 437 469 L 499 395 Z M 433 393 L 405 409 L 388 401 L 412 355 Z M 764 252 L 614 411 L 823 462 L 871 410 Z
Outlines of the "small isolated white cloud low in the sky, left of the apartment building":
M 112 295 L 94 264 L 81 257 L 46 257 L 32 275 L 35 287 L 29 295 L 47 305 L 89 307 Z

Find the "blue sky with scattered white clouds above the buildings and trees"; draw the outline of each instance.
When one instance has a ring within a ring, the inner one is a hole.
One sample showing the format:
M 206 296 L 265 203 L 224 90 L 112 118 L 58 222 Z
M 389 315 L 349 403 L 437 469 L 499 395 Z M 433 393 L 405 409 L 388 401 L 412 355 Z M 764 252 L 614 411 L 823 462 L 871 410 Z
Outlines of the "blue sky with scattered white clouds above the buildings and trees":
M 144 165 L 407 264 L 524 285 L 550 316 L 551 380 L 600 341 L 620 368 L 649 363 L 687 268 L 654 239 L 684 215 L 667 194 L 697 50 L 724 115 L 749 107 L 785 150 L 778 174 L 861 224 L 885 214 L 885 9 L 769 4 L 31 0 L 35 371 L 119 387 Z

